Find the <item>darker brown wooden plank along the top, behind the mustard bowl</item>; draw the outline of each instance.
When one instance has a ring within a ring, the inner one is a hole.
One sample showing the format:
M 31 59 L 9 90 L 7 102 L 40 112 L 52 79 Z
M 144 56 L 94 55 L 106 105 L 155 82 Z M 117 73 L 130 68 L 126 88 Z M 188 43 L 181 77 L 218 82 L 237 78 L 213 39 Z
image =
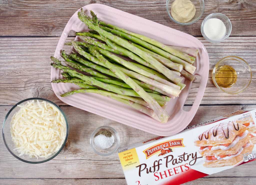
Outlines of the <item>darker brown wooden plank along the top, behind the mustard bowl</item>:
M 232 22 L 231 35 L 256 35 L 256 1 L 252 0 L 205 1 L 204 14 L 190 26 L 180 26 L 172 22 L 166 13 L 166 1 L 163 0 L 52 0 L 43 2 L 2 0 L 0 1 L 0 33 L 5 36 L 60 36 L 76 10 L 91 3 L 105 4 L 194 36 L 201 35 L 200 25 L 207 15 L 220 12 L 227 15 Z

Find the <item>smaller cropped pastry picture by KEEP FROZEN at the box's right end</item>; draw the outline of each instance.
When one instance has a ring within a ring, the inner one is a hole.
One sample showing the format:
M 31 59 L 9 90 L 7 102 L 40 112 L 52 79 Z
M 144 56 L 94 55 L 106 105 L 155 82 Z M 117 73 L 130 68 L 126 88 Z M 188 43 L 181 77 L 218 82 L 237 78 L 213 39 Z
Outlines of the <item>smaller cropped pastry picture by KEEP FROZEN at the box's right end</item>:
M 252 144 L 256 144 L 256 126 L 253 121 L 252 114 L 250 112 L 243 113 L 239 115 L 236 122 L 247 127 L 247 130 L 250 133 L 250 140 Z

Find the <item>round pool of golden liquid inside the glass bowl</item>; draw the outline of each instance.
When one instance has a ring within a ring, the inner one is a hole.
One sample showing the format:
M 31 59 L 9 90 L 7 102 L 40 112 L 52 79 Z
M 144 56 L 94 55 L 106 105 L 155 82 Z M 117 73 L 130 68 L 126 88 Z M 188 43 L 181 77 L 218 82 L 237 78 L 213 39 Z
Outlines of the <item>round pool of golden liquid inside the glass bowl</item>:
M 215 80 L 219 87 L 232 87 L 232 85 L 234 85 L 237 81 L 237 72 L 231 66 L 220 66 L 216 69 Z

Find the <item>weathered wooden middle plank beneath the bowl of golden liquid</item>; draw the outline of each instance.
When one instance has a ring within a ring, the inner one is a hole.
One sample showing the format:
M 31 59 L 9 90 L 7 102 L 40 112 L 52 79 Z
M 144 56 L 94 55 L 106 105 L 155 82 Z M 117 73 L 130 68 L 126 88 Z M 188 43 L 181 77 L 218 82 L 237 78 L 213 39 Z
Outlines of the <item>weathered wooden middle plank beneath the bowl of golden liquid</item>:
M 207 48 L 210 58 L 209 79 L 201 104 L 254 104 L 256 38 L 231 37 L 219 44 L 206 42 L 202 37 L 197 38 Z M 73 37 L 69 37 L 67 41 L 72 39 Z M 50 56 L 54 54 L 58 40 L 57 37 L 0 38 L 0 105 L 14 105 L 28 97 L 47 98 L 65 105 L 55 96 L 50 83 Z M 69 47 L 65 46 L 64 49 L 69 50 Z M 214 65 L 228 55 L 244 58 L 253 72 L 251 85 L 239 95 L 228 95 L 217 90 L 211 80 Z M 193 104 L 199 83 L 198 79 L 194 81 L 186 104 Z

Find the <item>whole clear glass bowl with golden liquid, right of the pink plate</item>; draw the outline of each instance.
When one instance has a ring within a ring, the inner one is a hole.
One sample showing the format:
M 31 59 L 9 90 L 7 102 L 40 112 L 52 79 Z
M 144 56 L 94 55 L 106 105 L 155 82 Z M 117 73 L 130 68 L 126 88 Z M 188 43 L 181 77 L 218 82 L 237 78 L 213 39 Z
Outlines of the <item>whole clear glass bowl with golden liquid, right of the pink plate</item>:
M 248 63 L 237 56 L 222 58 L 212 70 L 215 86 L 228 94 L 243 92 L 251 83 L 252 71 Z

